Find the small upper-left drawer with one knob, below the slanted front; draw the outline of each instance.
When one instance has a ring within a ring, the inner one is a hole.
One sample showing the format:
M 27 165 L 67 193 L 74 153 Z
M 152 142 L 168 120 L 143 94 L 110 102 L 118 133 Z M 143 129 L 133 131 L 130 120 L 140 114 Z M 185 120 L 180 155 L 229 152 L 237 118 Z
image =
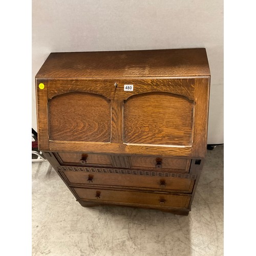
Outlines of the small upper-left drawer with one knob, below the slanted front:
M 80 165 L 80 166 L 109 166 L 112 167 L 111 157 L 103 154 L 87 153 L 55 153 L 60 164 L 63 165 Z

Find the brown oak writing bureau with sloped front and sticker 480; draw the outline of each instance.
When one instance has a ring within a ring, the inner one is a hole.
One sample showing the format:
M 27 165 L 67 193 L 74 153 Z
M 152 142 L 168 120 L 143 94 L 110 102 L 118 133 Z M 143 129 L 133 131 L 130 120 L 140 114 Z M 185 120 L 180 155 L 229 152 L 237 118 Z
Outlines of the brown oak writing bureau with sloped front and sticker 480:
M 207 144 L 205 49 L 51 53 L 38 147 L 82 206 L 188 215 Z

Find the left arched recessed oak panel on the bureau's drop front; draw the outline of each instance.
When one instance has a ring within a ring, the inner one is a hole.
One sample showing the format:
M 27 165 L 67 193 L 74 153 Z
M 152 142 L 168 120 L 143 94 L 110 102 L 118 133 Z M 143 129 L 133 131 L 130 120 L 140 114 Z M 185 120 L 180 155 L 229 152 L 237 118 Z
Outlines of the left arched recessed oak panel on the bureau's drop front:
M 58 141 L 110 142 L 110 100 L 72 92 L 48 103 L 49 138 Z

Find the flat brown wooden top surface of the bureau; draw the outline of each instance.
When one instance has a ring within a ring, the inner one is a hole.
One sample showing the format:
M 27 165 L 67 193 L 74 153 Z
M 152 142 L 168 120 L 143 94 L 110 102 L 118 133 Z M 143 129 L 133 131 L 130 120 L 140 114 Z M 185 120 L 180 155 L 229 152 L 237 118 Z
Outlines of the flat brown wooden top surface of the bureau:
M 204 48 L 51 53 L 36 78 L 209 76 Z

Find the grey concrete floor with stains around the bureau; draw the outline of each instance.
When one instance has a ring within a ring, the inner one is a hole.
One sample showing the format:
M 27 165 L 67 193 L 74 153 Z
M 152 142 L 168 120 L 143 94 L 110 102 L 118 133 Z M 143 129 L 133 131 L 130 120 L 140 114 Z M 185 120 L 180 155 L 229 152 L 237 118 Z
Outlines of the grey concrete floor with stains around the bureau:
M 80 206 L 49 162 L 32 163 L 32 255 L 223 255 L 223 146 L 207 158 L 188 216 Z

